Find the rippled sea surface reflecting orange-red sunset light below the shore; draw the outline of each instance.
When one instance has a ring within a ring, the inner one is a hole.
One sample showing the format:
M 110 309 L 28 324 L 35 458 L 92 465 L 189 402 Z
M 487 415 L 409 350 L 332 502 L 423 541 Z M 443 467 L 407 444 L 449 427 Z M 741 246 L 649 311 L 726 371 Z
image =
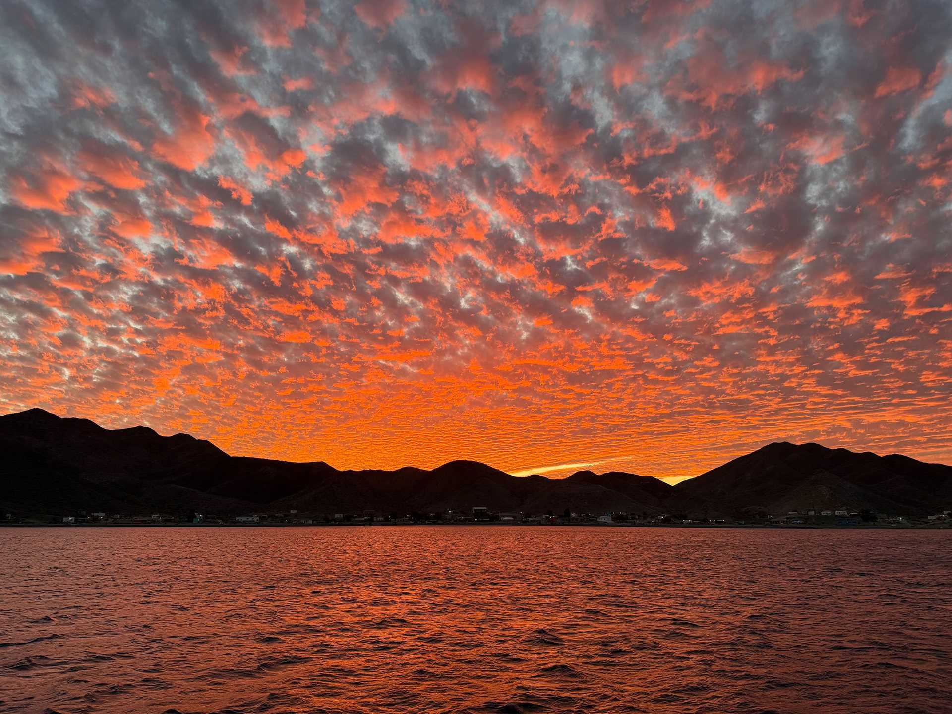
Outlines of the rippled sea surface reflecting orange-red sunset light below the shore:
M 3 712 L 949 712 L 952 533 L 0 528 Z

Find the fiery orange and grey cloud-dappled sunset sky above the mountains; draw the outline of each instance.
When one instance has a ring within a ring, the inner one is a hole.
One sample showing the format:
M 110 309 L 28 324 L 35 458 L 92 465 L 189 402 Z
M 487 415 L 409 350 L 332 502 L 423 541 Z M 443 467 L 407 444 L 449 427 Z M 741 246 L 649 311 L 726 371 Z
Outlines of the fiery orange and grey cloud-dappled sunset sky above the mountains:
M 0 3 L 0 412 L 952 464 L 952 4 Z

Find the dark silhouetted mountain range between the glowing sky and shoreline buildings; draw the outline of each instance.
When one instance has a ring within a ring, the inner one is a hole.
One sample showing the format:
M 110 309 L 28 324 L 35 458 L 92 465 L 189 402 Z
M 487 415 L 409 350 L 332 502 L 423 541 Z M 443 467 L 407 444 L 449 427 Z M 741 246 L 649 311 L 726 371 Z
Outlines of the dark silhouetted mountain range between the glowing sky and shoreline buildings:
M 29 515 L 222 515 L 298 509 L 398 516 L 468 511 L 742 515 L 850 507 L 919 514 L 952 501 L 952 466 L 817 444 L 775 443 L 670 486 L 622 471 L 517 478 L 474 461 L 339 470 L 229 456 L 188 434 L 106 429 L 43 409 L 0 416 L 0 508 Z

